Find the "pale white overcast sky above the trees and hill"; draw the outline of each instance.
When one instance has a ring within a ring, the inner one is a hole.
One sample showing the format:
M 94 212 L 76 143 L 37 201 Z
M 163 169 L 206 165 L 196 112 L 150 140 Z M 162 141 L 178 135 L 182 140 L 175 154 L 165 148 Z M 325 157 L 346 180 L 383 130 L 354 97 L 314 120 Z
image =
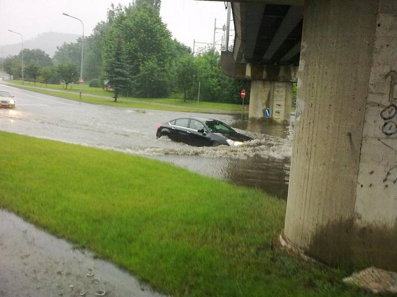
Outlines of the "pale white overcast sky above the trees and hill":
M 35 38 L 44 32 L 81 34 L 79 21 L 62 15 L 66 12 L 84 22 L 85 35 L 106 19 L 110 4 L 128 4 L 129 0 L 0 0 L 0 45 Z M 193 40 L 212 43 L 214 19 L 217 27 L 226 23 L 224 2 L 162 0 L 160 14 L 173 37 L 193 48 Z M 232 22 L 233 23 L 233 22 Z M 221 39 L 222 35 L 217 35 Z

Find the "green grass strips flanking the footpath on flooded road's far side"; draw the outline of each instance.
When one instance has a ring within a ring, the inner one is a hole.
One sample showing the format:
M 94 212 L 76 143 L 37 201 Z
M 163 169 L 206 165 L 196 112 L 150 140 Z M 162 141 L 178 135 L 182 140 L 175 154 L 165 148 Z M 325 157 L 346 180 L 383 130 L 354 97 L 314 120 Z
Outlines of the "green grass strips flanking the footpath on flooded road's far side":
M 20 80 L 12 80 L 9 81 L 12 84 L 16 84 L 21 86 L 22 82 Z M 26 90 L 42 93 L 42 94 L 48 94 L 45 92 L 50 92 L 50 91 L 45 91 L 45 90 L 40 90 L 40 89 L 35 89 L 35 88 L 28 88 L 28 87 L 40 87 L 40 88 L 47 88 L 47 89 L 52 89 L 52 90 L 57 90 L 57 91 L 69 91 L 69 92 L 74 92 L 74 93 L 79 93 L 79 86 L 74 85 L 73 89 L 70 89 L 70 85 L 67 87 L 67 90 L 65 90 L 65 87 L 62 85 L 52 85 L 52 84 L 42 84 L 42 83 L 36 83 L 34 85 L 33 82 L 25 82 L 24 87 L 20 87 Z M 109 91 L 104 91 L 101 88 L 90 88 L 88 85 L 83 84 L 82 85 L 82 93 L 84 94 L 91 94 L 91 95 L 98 95 L 98 96 L 106 96 L 109 97 L 109 100 L 113 100 L 113 92 Z M 54 92 L 56 96 L 67 98 L 64 96 L 64 94 L 59 93 L 59 92 Z M 49 95 L 53 95 L 49 94 Z M 96 104 L 107 104 L 104 103 L 106 101 L 102 100 L 96 100 L 96 101 L 88 101 L 88 97 L 84 97 L 85 102 L 89 103 L 96 103 Z M 71 98 L 67 98 L 71 99 Z M 188 112 L 203 112 L 202 109 L 199 108 L 205 108 L 205 109 L 212 109 L 212 110 L 222 110 L 222 111 L 241 111 L 242 106 L 240 104 L 232 104 L 232 103 L 218 103 L 218 102 L 206 102 L 206 101 L 201 101 L 199 104 L 197 104 L 196 100 L 187 100 L 184 102 L 183 99 L 174 99 L 174 98 L 151 98 L 151 99 L 144 99 L 144 98 L 134 98 L 134 97 L 121 97 L 121 101 L 123 102 L 128 102 L 128 99 L 133 99 L 133 100 L 138 100 L 141 102 L 141 104 L 145 104 L 146 102 L 156 102 L 156 103 L 163 103 L 163 104 L 172 104 L 176 105 L 175 107 L 172 106 L 164 106 L 164 105 L 148 105 L 147 106 L 157 106 L 157 107 L 142 107 L 142 108 L 151 108 L 151 109 L 162 109 L 162 110 L 176 110 L 176 111 L 188 111 Z M 113 105 L 113 104 L 107 104 L 107 105 Z M 117 106 L 121 106 L 120 104 Z M 159 107 L 160 106 L 160 107 Z M 124 107 L 133 107 L 133 106 L 124 106 Z M 198 108 L 199 107 L 199 108 Z M 248 110 L 248 105 L 245 107 L 245 110 Z

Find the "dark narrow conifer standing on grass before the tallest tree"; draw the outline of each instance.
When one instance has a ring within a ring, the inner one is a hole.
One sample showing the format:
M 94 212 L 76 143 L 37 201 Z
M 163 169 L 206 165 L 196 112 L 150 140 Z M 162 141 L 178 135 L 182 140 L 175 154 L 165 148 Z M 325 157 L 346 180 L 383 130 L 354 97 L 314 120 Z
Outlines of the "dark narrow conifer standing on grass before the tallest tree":
M 109 80 L 110 86 L 115 90 L 114 99 L 117 102 L 119 94 L 128 86 L 128 65 L 123 54 L 123 39 L 117 36 L 107 51 L 104 65 L 104 75 Z

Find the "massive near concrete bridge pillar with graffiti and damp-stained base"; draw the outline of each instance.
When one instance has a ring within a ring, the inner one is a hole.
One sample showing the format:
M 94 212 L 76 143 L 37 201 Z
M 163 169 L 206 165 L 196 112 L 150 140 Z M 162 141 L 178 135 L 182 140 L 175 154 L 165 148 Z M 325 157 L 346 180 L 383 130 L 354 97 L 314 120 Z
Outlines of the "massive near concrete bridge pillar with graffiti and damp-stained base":
M 397 270 L 396 24 L 396 0 L 306 0 L 284 238 L 328 263 Z

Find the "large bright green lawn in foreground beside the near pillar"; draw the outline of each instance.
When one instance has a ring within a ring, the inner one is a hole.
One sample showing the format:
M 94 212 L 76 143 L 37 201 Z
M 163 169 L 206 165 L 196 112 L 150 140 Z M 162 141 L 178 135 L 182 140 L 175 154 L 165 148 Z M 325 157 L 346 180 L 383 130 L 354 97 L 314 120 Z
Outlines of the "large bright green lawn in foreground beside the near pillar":
M 0 206 L 173 296 L 370 296 L 272 247 L 285 201 L 139 156 L 0 132 Z

